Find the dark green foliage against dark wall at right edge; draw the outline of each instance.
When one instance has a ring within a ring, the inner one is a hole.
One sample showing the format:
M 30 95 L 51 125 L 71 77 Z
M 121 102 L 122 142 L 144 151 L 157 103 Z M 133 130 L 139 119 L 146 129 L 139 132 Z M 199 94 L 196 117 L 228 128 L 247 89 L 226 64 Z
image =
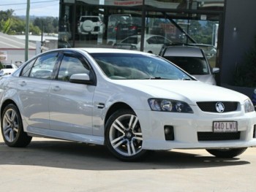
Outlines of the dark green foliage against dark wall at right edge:
M 256 36 L 255 47 L 244 54 L 243 64 L 236 67 L 233 85 L 241 87 L 256 87 Z

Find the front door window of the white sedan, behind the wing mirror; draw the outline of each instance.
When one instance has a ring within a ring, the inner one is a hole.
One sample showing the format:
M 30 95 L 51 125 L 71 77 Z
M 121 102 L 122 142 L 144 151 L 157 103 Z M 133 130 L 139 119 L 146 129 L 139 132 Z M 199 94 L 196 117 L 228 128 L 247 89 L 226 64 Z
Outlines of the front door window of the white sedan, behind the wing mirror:
M 71 55 L 64 55 L 61 65 L 59 67 L 59 72 L 57 80 L 69 81 L 72 74 L 89 74 L 89 67 L 83 64 L 79 58 Z

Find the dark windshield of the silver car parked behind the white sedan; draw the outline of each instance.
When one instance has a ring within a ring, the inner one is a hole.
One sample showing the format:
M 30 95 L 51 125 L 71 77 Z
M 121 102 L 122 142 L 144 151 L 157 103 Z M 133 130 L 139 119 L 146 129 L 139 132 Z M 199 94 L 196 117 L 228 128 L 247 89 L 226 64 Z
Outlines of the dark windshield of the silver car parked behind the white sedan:
M 165 57 L 189 74 L 209 74 L 208 64 L 204 58 L 195 57 Z

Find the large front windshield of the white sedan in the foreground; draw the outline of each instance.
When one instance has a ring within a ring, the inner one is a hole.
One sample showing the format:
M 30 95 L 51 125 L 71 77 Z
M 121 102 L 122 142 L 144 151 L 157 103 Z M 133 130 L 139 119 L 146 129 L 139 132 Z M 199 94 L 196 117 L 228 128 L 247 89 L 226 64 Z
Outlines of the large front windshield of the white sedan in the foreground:
M 192 80 L 173 64 L 157 55 L 130 53 L 91 53 L 110 79 Z

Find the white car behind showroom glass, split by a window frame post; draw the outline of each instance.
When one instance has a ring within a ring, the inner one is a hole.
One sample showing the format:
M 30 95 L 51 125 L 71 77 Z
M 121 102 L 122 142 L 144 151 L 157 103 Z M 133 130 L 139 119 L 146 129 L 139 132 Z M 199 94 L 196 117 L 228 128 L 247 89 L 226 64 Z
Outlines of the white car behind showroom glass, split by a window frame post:
M 114 48 L 140 50 L 140 35 L 132 35 L 113 45 Z M 170 40 L 160 35 L 145 34 L 144 52 L 159 54 L 165 44 L 170 44 Z

